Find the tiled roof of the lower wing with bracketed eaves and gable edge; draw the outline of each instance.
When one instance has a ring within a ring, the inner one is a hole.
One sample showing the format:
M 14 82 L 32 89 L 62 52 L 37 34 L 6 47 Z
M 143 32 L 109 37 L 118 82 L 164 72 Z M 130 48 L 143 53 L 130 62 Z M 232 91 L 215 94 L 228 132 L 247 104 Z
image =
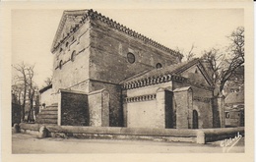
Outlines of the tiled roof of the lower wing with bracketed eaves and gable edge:
M 182 77 L 181 73 L 195 65 L 202 72 L 209 85 L 212 86 L 213 83 L 209 78 L 204 66 L 201 64 L 200 59 L 193 59 L 188 62 L 173 64 L 160 69 L 145 71 L 125 81 L 121 81 L 120 83 L 123 85 L 123 88 L 129 89 L 164 81 L 187 81 L 188 79 Z

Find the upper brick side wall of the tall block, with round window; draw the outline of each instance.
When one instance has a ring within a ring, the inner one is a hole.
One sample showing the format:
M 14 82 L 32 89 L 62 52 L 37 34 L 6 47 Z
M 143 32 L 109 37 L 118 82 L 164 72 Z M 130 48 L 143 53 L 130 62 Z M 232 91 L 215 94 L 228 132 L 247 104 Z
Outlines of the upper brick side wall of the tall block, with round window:
M 92 21 L 91 70 L 94 80 L 118 83 L 145 70 L 177 63 L 176 57 L 156 47 L 128 36 L 102 22 Z M 127 53 L 135 55 L 133 64 L 127 61 Z

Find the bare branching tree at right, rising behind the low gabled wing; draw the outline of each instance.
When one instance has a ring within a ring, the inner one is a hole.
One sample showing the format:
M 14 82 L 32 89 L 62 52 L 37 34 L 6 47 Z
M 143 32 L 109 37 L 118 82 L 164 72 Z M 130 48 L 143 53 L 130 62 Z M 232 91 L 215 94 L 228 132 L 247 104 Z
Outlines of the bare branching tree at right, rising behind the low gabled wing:
M 222 93 L 225 82 L 244 64 L 244 27 L 237 27 L 227 38 L 230 45 L 226 48 L 225 54 L 213 48 L 204 51 L 202 57 L 212 72 L 212 81 L 217 88 L 215 95 Z

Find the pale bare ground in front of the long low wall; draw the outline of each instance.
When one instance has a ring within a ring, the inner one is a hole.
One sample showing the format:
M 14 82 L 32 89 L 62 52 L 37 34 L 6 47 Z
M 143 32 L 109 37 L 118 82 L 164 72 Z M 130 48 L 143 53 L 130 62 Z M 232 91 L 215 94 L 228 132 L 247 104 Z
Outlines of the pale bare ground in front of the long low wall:
M 37 138 L 30 134 L 13 134 L 12 151 L 20 153 L 221 153 L 221 141 L 208 144 L 186 142 L 77 139 L 77 138 Z M 244 152 L 244 138 L 230 150 Z

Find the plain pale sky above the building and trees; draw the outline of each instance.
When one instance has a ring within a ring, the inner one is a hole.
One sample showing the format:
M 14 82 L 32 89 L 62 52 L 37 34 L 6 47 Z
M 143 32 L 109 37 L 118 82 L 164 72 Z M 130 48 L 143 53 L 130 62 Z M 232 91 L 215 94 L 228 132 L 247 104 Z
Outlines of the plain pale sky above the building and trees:
M 166 47 L 178 48 L 184 55 L 194 44 L 197 57 L 212 47 L 227 46 L 226 36 L 244 24 L 242 9 L 94 10 Z M 12 11 L 12 65 L 35 65 L 34 81 L 39 87 L 52 75 L 50 48 L 62 13 L 63 10 Z

